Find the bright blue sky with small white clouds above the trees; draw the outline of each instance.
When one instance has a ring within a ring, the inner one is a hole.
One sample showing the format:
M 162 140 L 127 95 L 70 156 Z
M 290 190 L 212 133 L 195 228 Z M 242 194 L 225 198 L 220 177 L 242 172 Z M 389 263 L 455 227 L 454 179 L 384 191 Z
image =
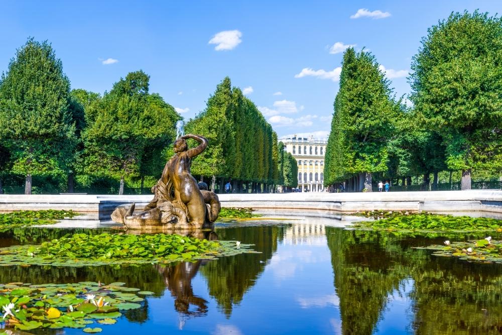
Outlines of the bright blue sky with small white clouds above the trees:
M 494 15 L 502 2 L 4 1 L 2 9 L 2 71 L 28 36 L 49 40 L 72 88 L 103 93 L 143 69 L 151 92 L 185 119 L 229 76 L 280 137 L 325 138 L 347 45 L 369 49 L 396 94 L 408 94 L 406 73 L 427 28 L 452 11 Z

